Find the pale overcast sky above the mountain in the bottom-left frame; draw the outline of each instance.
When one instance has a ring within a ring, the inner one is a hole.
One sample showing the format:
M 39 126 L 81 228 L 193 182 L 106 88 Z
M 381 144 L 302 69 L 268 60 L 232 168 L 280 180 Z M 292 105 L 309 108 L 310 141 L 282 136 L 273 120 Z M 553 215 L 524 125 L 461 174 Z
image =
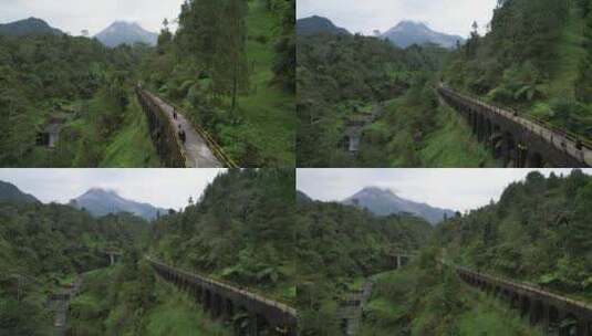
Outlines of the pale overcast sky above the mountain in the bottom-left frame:
M 0 169 L 11 182 L 42 202 L 65 203 L 93 187 L 112 189 L 124 198 L 179 209 L 197 199 L 224 169 Z

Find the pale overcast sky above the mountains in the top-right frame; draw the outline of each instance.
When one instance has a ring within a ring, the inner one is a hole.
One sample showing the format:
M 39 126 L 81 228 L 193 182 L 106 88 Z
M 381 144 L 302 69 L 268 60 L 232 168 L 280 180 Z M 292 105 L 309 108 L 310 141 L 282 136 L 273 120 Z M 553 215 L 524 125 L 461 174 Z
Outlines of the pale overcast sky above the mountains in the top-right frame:
M 297 17 L 329 18 L 350 32 L 385 32 L 402 20 L 426 22 L 432 29 L 468 36 L 477 21 L 491 21 L 497 0 L 297 0 Z

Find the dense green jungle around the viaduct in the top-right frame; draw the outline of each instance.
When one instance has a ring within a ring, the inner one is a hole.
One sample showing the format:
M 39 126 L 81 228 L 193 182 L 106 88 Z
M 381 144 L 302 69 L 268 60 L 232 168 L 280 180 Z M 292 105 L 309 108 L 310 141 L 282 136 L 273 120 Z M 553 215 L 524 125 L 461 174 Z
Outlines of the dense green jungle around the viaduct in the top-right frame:
M 456 48 L 401 49 L 361 34 L 298 35 L 299 167 L 501 167 L 443 82 L 519 116 L 591 138 L 592 2 L 499 0 Z M 352 129 L 359 148 L 349 150 Z

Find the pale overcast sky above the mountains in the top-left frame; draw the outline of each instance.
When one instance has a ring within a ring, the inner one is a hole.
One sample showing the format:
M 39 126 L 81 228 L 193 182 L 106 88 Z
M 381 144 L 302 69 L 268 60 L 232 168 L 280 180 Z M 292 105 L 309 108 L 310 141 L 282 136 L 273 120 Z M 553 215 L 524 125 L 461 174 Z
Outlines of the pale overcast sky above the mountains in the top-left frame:
M 137 22 L 159 32 L 163 20 L 176 20 L 184 0 L 0 0 L 0 23 L 35 17 L 72 35 L 94 35 L 114 21 Z

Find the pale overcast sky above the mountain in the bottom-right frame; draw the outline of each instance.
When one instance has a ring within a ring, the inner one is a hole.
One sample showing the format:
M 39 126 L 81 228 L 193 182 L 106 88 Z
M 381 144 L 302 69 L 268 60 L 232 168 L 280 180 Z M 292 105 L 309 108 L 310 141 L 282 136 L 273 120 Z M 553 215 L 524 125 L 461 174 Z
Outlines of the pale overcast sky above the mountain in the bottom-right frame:
M 497 201 L 505 187 L 532 169 L 298 169 L 298 189 L 322 200 L 343 200 L 364 187 L 393 190 L 399 197 L 458 211 Z M 571 169 L 536 169 L 568 175 Z M 592 169 L 584 169 L 592 175 Z

